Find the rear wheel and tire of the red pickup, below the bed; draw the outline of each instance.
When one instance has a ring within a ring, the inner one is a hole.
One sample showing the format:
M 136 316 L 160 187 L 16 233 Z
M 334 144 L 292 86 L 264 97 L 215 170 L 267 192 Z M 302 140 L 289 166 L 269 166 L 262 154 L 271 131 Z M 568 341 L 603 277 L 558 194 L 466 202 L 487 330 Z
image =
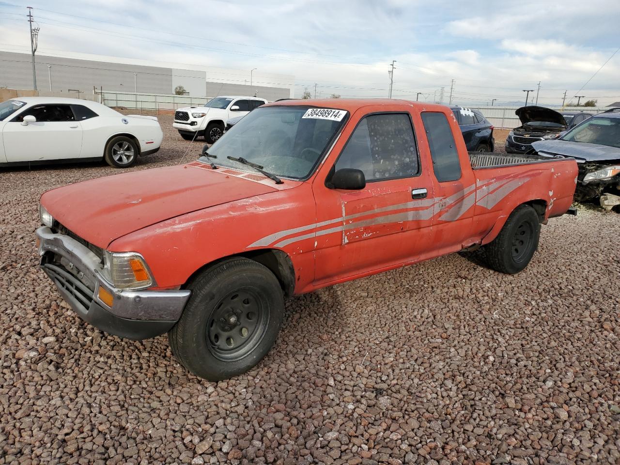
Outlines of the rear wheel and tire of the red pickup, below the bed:
M 540 231 L 536 210 L 529 205 L 518 206 L 494 241 L 484 246 L 487 265 L 509 275 L 522 271 L 538 249 Z

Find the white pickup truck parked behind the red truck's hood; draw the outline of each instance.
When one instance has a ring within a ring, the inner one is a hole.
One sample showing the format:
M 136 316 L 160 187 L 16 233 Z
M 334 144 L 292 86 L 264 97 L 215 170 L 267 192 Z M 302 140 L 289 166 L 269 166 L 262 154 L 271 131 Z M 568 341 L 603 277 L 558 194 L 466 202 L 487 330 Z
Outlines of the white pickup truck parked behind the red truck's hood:
M 177 129 L 185 140 L 204 136 L 207 143 L 213 144 L 224 133 L 224 126 L 229 118 L 247 115 L 254 108 L 266 103 L 265 99 L 243 95 L 215 97 L 203 107 L 179 108 L 174 112 L 172 127 Z

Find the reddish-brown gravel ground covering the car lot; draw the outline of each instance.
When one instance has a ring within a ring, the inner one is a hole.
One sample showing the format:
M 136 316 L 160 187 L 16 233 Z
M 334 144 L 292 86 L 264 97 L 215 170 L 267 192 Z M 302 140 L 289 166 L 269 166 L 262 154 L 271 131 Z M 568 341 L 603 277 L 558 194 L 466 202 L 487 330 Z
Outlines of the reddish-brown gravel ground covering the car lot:
M 200 151 L 161 122 L 133 169 Z M 451 255 L 291 299 L 265 360 L 208 383 L 37 268 L 39 195 L 117 172 L 0 172 L 0 464 L 620 463 L 616 214 L 552 219 L 517 276 Z

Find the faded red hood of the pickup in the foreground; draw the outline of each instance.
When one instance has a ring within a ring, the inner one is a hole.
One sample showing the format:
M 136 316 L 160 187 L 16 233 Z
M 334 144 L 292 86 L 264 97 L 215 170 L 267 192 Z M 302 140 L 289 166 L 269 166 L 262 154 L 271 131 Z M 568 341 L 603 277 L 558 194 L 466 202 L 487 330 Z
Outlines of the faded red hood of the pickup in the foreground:
M 69 231 L 105 249 L 119 237 L 166 219 L 275 190 L 215 170 L 177 165 L 59 187 L 45 192 L 41 203 Z

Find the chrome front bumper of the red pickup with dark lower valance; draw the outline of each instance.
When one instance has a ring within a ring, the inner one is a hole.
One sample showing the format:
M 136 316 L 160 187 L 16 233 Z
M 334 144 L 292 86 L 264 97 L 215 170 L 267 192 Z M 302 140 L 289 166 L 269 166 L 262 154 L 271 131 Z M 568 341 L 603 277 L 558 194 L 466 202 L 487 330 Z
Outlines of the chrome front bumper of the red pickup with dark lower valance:
M 120 290 L 102 274 L 102 260 L 81 242 L 47 226 L 36 235 L 41 268 L 84 321 L 127 339 L 148 339 L 179 320 L 190 291 Z M 112 294 L 112 306 L 99 298 L 100 288 Z

